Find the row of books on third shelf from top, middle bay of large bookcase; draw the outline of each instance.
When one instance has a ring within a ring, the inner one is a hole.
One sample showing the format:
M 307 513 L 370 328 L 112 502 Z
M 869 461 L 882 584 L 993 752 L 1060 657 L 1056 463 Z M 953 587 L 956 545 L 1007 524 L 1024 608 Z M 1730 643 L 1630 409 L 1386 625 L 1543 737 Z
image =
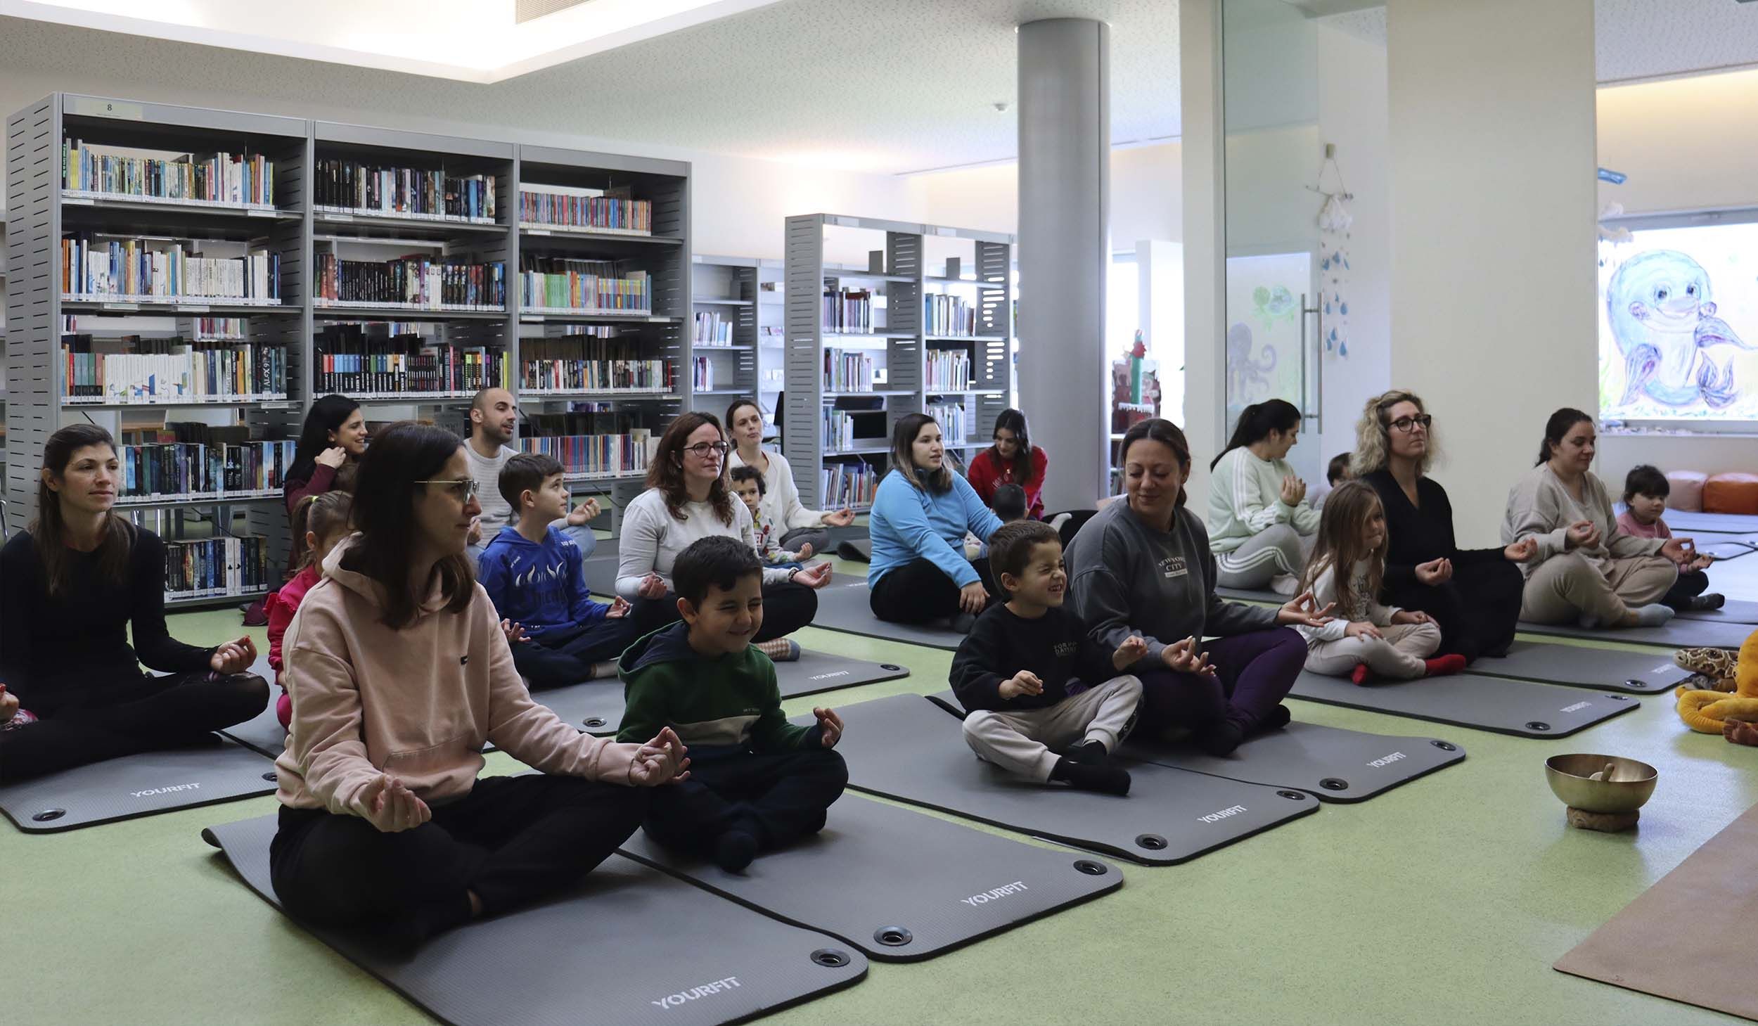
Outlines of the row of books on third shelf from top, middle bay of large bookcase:
M 311 387 L 355 397 L 471 394 L 512 381 L 501 348 L 455 346 L 420 336 L 369 337 L 362 325 L 332 325 L 313 341 Z

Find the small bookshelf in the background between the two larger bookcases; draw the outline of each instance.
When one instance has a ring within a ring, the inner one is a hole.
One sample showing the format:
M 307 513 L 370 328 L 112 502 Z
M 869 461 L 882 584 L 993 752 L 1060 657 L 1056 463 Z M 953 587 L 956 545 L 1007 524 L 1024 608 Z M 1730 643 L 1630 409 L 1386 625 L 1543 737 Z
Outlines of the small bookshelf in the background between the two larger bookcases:
M 693 364 L 707 364 L 712 388 L 693 367 L 694 409 L 721 416 L 738 397 L 763 409 L 765 437 L 775 437 L 782 392 L 782 264 L 758 256 L 693 256 Z

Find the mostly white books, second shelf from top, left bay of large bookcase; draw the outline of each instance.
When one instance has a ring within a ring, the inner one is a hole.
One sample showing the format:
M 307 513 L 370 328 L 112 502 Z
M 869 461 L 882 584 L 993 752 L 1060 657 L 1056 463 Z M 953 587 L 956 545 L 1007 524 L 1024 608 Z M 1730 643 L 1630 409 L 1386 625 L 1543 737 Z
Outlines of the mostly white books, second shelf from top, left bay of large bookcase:
M 281 302 L 278 253 L 202 256 L 195 246 L 176 239 L 62 239 L 65 293 L 107 302 Z

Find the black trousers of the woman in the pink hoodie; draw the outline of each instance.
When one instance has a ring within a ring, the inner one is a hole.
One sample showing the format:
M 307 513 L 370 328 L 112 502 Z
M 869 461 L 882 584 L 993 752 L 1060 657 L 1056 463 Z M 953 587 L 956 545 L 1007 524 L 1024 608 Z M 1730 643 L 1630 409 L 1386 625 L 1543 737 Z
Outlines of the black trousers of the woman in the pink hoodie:
M 466 891 L 496 914 L 592 871 L 640 826 L 649 796 L 580 777 L 483 777 L 401 833 L 281 806 L 269 878 L 292 915 L 320 926 L 413 921 L 438 933 L 469 919 Z

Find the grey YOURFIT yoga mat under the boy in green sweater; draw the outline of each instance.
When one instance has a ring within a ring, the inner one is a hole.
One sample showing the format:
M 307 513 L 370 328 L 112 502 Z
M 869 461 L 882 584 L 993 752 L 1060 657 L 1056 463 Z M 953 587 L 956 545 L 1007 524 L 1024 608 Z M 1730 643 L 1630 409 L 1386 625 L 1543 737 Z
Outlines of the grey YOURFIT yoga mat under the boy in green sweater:
M 622 852 L 881 961 L 928 959 L 1123 885 L 1097 859 L 858 794 L 830 806 L 819 835 L 758 856 L 742 873 L 668 852 L 645 835 Z

